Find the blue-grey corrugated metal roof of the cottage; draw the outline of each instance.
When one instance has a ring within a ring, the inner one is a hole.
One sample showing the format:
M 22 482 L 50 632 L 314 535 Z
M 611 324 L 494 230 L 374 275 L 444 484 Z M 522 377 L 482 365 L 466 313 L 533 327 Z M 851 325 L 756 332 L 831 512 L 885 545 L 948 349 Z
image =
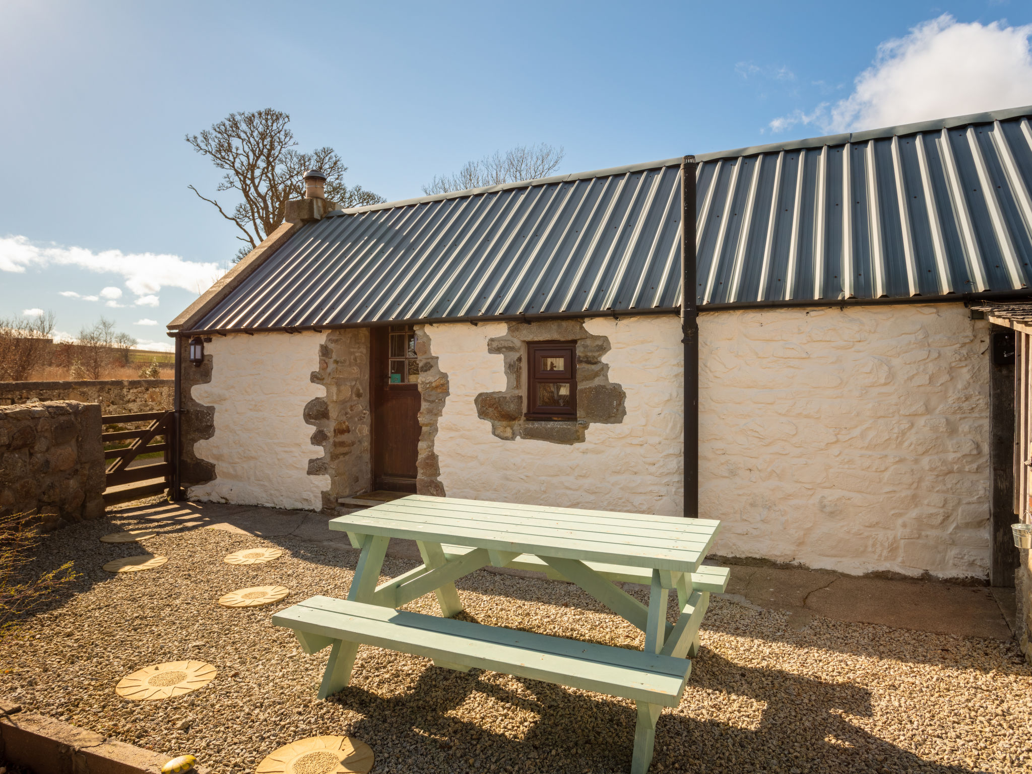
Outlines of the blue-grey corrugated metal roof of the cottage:
M 1032 108 L 700 156 L 700 304 L 1014 291 Z M 338 211 L 202 330 L 680 303 L 679 159 Z

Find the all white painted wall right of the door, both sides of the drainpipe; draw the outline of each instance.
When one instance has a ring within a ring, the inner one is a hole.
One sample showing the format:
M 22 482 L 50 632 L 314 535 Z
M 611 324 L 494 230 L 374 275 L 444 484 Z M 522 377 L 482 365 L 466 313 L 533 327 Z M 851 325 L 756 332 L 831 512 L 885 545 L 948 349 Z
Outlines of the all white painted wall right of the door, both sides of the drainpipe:
M 681 344 L 673 317 L 588 320 L 609 336 L 619 425 L 560 446 L 502 441 L 479 392 L 501 323 L 427 326 L 451 394 L 434 444 L 449 495 L 681 513 Z M 985 576 L 988 324 L 958 304 L 700 317 L 700 507 L 715 550 L 846 573 Z

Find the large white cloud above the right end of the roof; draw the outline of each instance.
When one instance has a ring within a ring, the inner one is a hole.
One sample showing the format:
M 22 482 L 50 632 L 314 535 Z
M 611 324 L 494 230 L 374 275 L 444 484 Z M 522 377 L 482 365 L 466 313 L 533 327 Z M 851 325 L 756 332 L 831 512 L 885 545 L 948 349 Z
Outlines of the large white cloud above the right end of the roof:
M 1032 25 L 960 23 L 944 13 L 881 43 L 845 99 L 796 110 L 770 127 L 876 129 L 1032 104 L 1030 37 Z

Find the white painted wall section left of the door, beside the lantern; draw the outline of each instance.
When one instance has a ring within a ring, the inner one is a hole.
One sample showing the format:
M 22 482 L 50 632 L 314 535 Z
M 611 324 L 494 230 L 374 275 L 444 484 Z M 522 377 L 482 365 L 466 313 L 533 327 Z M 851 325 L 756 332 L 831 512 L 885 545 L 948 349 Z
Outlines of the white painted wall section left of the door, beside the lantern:
M 204 345 L 212 381 L 193 396 L 215 407 L 215 436 L 194 446 L 215 463 L 216 478 L 190 487 L 188 496 L 215 503 L 318 510 L 328 476 L 309 476 L 309 459 L 321 455 L 310 443 L 304 406 L 324 397 L 312 384 L 324 333 L 231 333 Z

